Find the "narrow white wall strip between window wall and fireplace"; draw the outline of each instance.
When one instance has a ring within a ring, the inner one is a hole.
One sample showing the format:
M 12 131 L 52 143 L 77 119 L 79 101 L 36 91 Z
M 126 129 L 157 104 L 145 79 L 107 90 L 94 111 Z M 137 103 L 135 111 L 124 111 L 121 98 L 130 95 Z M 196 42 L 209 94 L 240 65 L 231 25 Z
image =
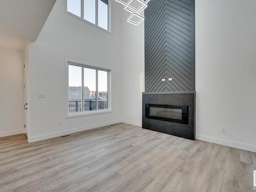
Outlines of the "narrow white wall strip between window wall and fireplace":
M 130 14 L 122 16 L 122 110 L 123 122 L 141 126 L 142 92 L 144 92 L 144 22 L 127 23 Z

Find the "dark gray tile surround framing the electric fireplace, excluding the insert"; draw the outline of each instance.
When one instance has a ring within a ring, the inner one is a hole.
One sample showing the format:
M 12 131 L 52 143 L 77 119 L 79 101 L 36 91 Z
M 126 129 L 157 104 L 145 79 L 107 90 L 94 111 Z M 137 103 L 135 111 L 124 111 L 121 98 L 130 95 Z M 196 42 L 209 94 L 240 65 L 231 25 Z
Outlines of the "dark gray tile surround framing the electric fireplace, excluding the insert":
M 142 128 L 195 140 L 195 91 L 155 92 L 142 95 Z M 146 118 L 146 104 L 188 106 L 188 124 Z

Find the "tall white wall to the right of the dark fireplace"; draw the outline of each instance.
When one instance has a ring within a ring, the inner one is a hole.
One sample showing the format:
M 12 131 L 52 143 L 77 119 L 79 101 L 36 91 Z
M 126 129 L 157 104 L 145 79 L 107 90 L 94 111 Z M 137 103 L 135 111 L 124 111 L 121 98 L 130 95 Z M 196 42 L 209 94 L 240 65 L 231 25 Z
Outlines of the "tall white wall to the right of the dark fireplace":
M 255 7 L 254 0 L 196 0 L 197 138 L 254 152 Z

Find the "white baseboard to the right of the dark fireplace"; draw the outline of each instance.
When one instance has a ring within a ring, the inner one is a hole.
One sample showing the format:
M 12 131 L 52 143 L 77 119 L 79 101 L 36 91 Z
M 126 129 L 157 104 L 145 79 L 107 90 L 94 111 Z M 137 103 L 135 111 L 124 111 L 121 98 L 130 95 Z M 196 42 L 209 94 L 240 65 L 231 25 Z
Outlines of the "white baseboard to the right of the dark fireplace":
M 219 139 L 219 138 L 215 138 L 215 137 L 209 137 L 209 136 L 198 135 L 198 134 L 196 134 L 196 139 L 202 140 L 202 141 L 208 141 L 208 142 L 211 142 L 211 143 L 226 145 L 226 146 L 230 146 L 230 147 L 234 147 L 234 148 L 240 148 L 241 150 L 246 150 L 246 151 L 256 153 L 256 146 L 255 145 L 239 143 L 239 142 L 236 142 L 236 141 Z

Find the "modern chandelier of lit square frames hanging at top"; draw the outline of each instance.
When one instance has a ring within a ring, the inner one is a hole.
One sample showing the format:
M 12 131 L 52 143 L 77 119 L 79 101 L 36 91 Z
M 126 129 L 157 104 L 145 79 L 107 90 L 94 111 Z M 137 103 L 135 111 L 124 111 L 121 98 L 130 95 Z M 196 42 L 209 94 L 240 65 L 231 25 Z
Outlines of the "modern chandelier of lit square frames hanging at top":
M 127 3 L 124 2 L 125 0 L 115 1 L 124 5 L 124 10 L 131 13 L 131 15 L 127 18 L 127 22 L 137 26 L 144 20 L 144 16 L 141 14 L 141 12 L 147 8 L 147 3 L 150 0 L 129 0 Z M 135 3 L 137 3 L 137 7 L 135 7 Z

